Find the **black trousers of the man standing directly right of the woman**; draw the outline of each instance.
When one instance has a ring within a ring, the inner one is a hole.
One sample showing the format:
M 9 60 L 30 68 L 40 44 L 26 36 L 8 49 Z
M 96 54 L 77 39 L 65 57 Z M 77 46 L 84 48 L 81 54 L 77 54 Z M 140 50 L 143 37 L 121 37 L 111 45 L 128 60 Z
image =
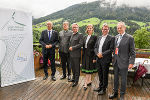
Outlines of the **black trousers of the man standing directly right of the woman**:
M 105 90 L 108 86 L 109 63 L 104 64 L 98 60 L 96 66 L 98 68 L 99 88 Z

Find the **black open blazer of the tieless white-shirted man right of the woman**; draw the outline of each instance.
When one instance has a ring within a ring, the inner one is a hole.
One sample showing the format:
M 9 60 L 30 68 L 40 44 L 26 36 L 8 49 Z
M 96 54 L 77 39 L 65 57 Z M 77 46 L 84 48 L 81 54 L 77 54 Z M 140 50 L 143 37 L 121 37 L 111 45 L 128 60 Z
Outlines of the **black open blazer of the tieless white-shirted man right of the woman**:
M 94 52 L 97 55 L 99 51 L 99 44 L 102 36 L 99 36 L 97 42 L 95 44 Z M 111 35 L 107 35 L 103 47 L 102 47 L 102 55 L 103 57 L 100 58 L 102 64 L 110 63 L 112 61 L 112 52 L 114 48 L 114 37 Z M 97 57 L 98 59 L 98 57 Z

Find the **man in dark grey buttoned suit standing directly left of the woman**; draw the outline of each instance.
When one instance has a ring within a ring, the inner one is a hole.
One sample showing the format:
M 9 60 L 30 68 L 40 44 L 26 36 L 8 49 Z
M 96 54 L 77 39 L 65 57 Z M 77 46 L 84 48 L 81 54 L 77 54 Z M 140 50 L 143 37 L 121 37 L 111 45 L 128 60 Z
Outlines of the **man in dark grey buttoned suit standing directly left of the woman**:
M 76 86 L 80 76 L 80 58 L 81 47 L 83 45 L 83 36 L 78 32 L 79 26 L 76 23 L 72 24 L 73 34 L 70 39 L 69 51 L 70 51 L 70 64 L 73 72 L 73 78 L 70 82 L 73 82 L 72 87 Z

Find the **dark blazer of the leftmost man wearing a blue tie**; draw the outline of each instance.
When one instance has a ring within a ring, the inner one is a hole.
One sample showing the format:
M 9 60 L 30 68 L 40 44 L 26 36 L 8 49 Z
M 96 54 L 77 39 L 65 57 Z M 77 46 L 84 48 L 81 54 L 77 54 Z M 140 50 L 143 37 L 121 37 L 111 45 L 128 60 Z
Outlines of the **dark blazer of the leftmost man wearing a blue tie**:
M 42 44 L 42 53 L 43 54 L 47 53 L 47 50 L 50 50 L 51 54 L 55 54 L 55 46 L 58 43 L 58 33 L 55 30 L 52 30 L 52 35 L 49 40 L 48 32 L 47 32 L 47 30 L 44 30 L 44 31 L 42 31 L 39 42 Z M 52 48 L 46 49 L 45 46 L 49 45 L 49 44 L 52 45 Z

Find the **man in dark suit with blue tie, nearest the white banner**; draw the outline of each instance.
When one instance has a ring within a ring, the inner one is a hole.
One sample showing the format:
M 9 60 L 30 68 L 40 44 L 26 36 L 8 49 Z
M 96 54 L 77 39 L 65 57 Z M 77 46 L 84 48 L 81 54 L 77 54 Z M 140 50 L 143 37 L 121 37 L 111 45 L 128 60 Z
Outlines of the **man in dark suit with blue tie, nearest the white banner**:
M 53 81 L 56 81 L 55 78 L 55 45 L 58 42 L 58 33 L 54 30 L 52 30 L 53 23 L 47 22 L 47 30 L 42 31 L 41 38 L 39 42 L 42 44 L 42 54 L 43 54 L 43 67 L 44 67 L 44 73 L 45 76 L 43 80 L 46 80 L 48 78 L 48 58 L 51 61 L 51 79 Z

